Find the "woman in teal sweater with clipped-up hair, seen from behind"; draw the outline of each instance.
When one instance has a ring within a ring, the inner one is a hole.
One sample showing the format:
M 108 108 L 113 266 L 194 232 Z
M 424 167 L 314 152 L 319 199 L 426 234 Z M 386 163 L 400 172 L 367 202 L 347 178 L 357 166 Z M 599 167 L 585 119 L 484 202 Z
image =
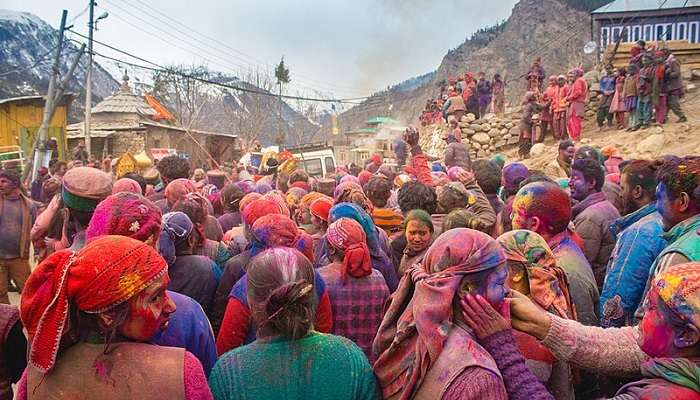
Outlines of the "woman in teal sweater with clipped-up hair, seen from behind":
M 265 250 L 247 277 L 258 340 L 219 359 L 209 380 L 217 399 L 379 398 L 362 351 L 315 330 L 319 278 L 307 257 L 290 248 Z

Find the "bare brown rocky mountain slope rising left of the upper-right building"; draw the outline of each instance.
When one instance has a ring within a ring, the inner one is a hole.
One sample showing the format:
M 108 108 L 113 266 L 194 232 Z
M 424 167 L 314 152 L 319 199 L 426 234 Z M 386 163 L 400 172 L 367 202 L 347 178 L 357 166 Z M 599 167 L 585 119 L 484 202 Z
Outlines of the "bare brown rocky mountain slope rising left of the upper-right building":
M 579 63 L 590 67 L 593 60 L 584 57 L 582 51 L 591 36 L 589 14 L 569 3 L 575 2 L 521 0 L 504 24 L 482 29 L 449 51 L 423 85 L 412 91 L 390 89 L 377 93 L 341 114 L 341 130 L 359 128 L 374 115 L 390 114 L 405 123 L 415 122 L 426 100 L 436 96 L 439 83 L 465 71 L 484 71 L 488 76 L 500 72 L 509 82 L 506 96 L 515 102 L 522 95 L 523 76 L 535 57 L 542 58 L 548 75 L 560 74 Z

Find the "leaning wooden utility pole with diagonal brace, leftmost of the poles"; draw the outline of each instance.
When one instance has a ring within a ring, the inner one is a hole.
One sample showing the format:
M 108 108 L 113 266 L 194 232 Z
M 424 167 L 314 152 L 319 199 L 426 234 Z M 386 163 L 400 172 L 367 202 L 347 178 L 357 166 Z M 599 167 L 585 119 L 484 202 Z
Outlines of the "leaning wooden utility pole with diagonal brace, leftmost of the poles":
M 36 172 L 39 166 L 44 163 L 44 156 L 46 155 L 46 140 L 49 131 L 49 125 L 51 124 L 51 119 L 56 112 L 56 106 L 63 98 L 63 92 L 68 86 L 68 82 L 75 72 L 75 68 L 78 66 L 80 57 L 82 57 L 85 52 L 85 45 L 83 44 L 78 51 L 78 54 L 73 60 L 68 69 L 66 76 L 57 83 L 60 78 L 60 65 L 61 65 L 61 51 L 63 50 L 63 33 L 66 30 L 66 18 L 68 17 L 68 11 L 63 10 L 61 15 L 61 27 L 58 31 L 58 45 L 56 46 L 56 56 L 54 58 L 53 66 L 51 67 L 51 77 L 49 78 L 49 90 L 46 94 L 46 102 L 44 104 L 44 114 L 41 119 L 41 125 L 37 131 L 36 137 L 34 139 L 34 144 L 32 145 L 32 154 L 27 157 L 27 162 L 24 166 L 24 171 L 22 174 L 22 180 L 26 180 L 31 173 L 32 180 L 36 178 Z

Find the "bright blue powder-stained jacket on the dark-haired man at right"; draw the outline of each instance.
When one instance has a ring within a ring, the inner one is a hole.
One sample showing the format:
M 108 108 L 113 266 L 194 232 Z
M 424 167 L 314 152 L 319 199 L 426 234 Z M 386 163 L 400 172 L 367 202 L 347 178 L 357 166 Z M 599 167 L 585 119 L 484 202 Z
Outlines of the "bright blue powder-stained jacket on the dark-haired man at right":
M 654 203 L 617 219 L 610 232 L 617 238 L 600 294 L 602 327 L 634 325 L 634 312 L 656 257 L 666 247 L 663 223 Z

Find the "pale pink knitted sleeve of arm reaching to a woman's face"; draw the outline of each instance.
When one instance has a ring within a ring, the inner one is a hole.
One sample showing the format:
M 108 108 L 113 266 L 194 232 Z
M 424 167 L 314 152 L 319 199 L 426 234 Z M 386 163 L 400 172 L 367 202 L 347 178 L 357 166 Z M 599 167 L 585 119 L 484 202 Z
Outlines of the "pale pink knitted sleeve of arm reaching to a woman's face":
M 549 314 L 551 326 L 542 344 L 572 367 L 613 376 L 640 374 L 647 356 L 637 344 L 637 327 L 599 328 Z

